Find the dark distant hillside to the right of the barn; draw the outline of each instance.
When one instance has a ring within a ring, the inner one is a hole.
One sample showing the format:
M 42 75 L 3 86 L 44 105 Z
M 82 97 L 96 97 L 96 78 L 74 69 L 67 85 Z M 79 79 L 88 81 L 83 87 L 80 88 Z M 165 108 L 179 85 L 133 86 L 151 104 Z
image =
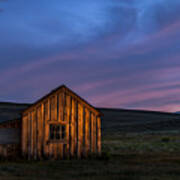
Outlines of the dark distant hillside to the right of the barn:
M 97 108 L 102 117 L 103 133 L 180 130 L 180 114 Z

